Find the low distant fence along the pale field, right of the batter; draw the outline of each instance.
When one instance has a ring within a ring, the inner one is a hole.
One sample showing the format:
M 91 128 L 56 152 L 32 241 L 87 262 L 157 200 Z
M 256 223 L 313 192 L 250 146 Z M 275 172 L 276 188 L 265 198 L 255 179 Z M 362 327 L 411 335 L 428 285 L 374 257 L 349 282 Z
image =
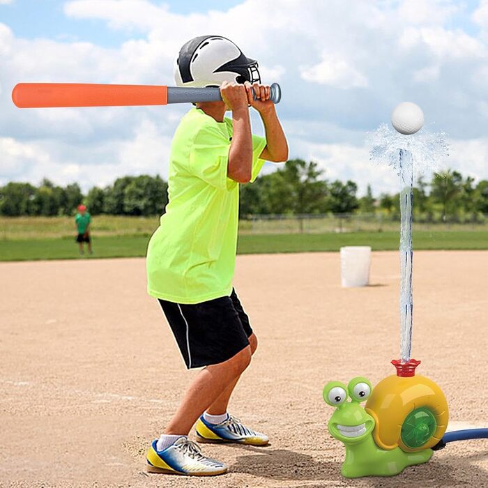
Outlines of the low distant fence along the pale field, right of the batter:
M 422 230 L 488 231 L 488 214 L 413 219 L 413 228 Z M 383 232 L 399 230 L 399 215 L 305 214 L 248 215 L 241 217 L 241 234 L 323 234 L 328 232 Z

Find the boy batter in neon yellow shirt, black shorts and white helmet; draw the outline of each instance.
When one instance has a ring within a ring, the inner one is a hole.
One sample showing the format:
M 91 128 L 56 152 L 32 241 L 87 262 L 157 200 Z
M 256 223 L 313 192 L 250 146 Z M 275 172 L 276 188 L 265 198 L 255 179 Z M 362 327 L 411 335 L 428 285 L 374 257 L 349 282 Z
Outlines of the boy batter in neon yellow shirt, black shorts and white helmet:
M 188 41 L 175 78 L 178 86 L 220 86 L 223 101 L 198 103 L 181 119 L 169 155 L 169 203 L 148 244 L 148 293 L 158 299 L 185 365 L 203 369 L 151 444 L 147 462 L 149 471 L 217 475 L 227 467 L 188 439 L 195 422 L 199 442 L 268 443 L 227 412 L 257 348 L 232 280 L 239 185 L 252 183 L 265 160 L 286 161 L 288 146 L 257 62 L 230 40 Z M 259 112 L 266 137 L 252 135 L 249 107 Z

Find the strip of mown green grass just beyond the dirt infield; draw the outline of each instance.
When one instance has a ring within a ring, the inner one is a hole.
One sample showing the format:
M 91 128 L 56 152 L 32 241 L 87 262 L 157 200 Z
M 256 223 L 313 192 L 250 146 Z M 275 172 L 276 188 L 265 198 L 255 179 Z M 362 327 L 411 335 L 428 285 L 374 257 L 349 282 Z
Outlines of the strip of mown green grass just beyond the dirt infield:
M 239 254 L 274 252 L 338 251 L 344 245 L 370 245 L 373 250 L 397 250 L 398 232 L 351 234 L 244 234 L 239 236 Z M 142 257 L 148 236 L 95 236 L 93 258 Z M 415 250 L 488 249 L 488 231 L 416 231 Z M 0 261 L 77 259 L 77 244 L 70 238 L 40 238 L 0 241 Z

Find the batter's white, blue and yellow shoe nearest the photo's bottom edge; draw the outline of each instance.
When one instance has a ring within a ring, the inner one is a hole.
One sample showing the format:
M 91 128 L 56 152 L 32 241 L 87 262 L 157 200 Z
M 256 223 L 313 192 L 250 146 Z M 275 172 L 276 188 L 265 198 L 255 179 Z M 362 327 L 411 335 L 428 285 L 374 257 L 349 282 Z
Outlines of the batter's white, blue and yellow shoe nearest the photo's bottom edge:
M 199 446 L 185 436 L 165 450 L 158 451 L 158 440 L 153 441 L 147 453 L 147 471 L 188 476 L 215 476 L 227 473 L 227 466 L 201 454 Z

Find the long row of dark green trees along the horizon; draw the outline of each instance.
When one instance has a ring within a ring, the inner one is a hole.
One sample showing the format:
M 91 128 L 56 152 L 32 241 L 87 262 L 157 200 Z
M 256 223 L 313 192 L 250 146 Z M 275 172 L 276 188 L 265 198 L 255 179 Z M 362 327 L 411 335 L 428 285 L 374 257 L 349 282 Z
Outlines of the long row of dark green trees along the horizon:
M 289 160 L 252 185 L 241 185 L 241 216 L 265 214 L 381 213 L 397 218 L 399 195 L 372 194 L 368 185 L 358 197 L 351 180 L 329 181 L 316 162 Z M 430 181 L 418 178 L 413 190 L 417 220 L 470 220 L 488 214 L 488 181 L 477 184 L 458 171 L 435 173 Z M 160 176 L 123 176 L 105 188 L 91 188 L 86 195 L 77 183 L 61 187 L 44 179 L 40 185 L 10 182 L 0 187 L 0 214 L 74 215 L 80 203 L 92 215 L 158 215 L 167 204 L 167 182 Z

